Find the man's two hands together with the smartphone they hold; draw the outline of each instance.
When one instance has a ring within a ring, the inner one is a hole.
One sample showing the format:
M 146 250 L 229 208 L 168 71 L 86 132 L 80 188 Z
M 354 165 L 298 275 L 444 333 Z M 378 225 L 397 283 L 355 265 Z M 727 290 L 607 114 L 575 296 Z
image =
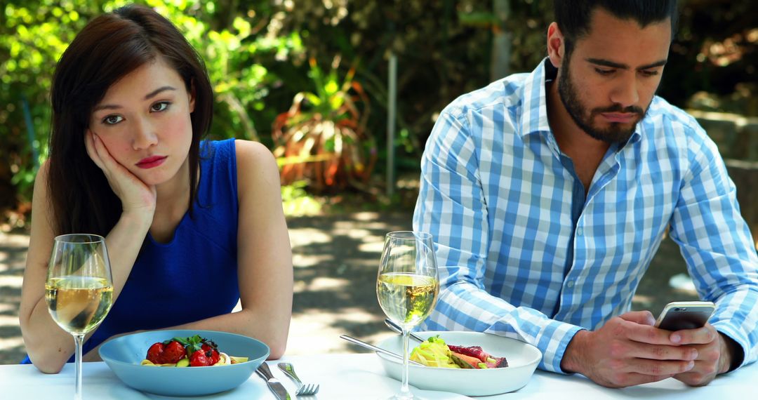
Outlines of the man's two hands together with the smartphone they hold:
M 731 362 L 731 339 L 706 322 L 714 308 L 713 303 L 673 303 L 657 322 L 649 311 L 614 317 L 597 330 L 577 333 L 561 367 L 609 387 L 668 377 L 691 386 L 706 385 L 726 372 Z

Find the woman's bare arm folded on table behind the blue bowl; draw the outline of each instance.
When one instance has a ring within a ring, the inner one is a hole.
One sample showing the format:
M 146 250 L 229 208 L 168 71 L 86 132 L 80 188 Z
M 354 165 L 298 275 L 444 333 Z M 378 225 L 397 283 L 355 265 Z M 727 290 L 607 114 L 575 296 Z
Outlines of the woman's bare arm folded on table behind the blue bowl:
M 279 170 L 264 145 L 236 141 L 237 232 L 242 311 L 166 329 L 221 330 L 254 337 L 280 358 L 292 317 L 293 267 L 290 236 L 281 206 Z M 96 351 L 86 359 L 97 359 Z

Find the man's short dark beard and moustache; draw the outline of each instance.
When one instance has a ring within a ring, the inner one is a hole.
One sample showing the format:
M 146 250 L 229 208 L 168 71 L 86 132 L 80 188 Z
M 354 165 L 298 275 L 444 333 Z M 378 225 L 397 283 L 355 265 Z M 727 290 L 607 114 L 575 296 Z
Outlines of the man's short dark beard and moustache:
M 571 73 L 569 73 L 568 70 L 568 55 L 563 58 L 561 63 L 561 78 L 558 81 L 558 97 L 561 99 L 563 107 L 568 111 L 568 115 L 571 116 L 574 123 L 576 123 L 581 130 L 584 130 L 587 135 L 592 136 L 594 139 L 610 144 L 625 143 L 637 128 L 637 122 L 642 120 L 645 114 L 647 114 L 647 110 L 650 109 L 650 105 L 647 105 L 647 108 L 643 110 L 634 105 L 622 108 L 621 105 L 615 104 L 607 108 L 594 108 L 590 113 L 587 113 L 587 109 L 584 108 L 584 105 L 579 100 L 576 86 L 571 80 Z M 631 127 L 628 128 L 619 122 L 612 122 L 610 123 L 610 126 L 605 129 L 593 126 L 592 120 L 594 117 L 604 112 L 635 113 L 640 117 L 637 122 L 632 123 Z

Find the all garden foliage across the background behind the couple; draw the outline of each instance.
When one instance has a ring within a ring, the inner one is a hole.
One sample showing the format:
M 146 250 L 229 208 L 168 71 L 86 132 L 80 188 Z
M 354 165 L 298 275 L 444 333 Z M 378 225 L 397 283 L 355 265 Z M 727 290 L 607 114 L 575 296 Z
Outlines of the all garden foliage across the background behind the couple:
M 545 32 L 553 20 L 552 3 L 537 0 L 506 2 L 509 12 L 500 26 L 493 12 L 498 0 L 137 2 L 157 8 L 176 23 L 205 58 L 216 93 L 212 138 L 257 138 L 273 147 L 272 123 L 299 92 L 315 96 L 309 96 L 305 111 L 328 114 L 317 110 L 335 109 L 337 103 L 318 99 L 340 89 L 342 81 L 335 78 L 330 84 L 327 73 L 320 78 L 324 82 L 316 82 L 306 61 L 312 57 L 317 65 L 328 65 L 340 56 L 361 60 L 351 80 L 374 106 L 365 121 L 365 135 L 378 142 L 368 142 L 362 151 L 378 148 L 376 155 L 382 158 L 389 100 L 387 61 L 390 52 L 395 54 L 396 165 L 404 170 L 418 168 L 426 137 L 445 105 L 489 83 L 493 30 L 511 34 L 509 73 L 528 72 L 546 55 Z M 0 4 L 0 208 L 30 198 L 36 165 L 47 153 L 49 88 L 56 61 L 89 20 L 124 3 L 6 0 Z M 752 11 L 753 3 L 680 3 L 678 36 L 659 93 L 683 106 L 694 92 L 706 90 L 724 98 L 719 110 L 758 114 L 754 100 L 758 14 Z M 346 77 L 348 71 L 343 66 L 329 73 Z M 24 98 L 32 130 L 24 121 Z M 336 140 L 324 142 L 325 150 L 336 148 Z M 34 154 L 39 156 L 35 159 Z M 378 165 L 381 169 L 383 163 Z M 14 186 L 9 192 L 11 180 Z

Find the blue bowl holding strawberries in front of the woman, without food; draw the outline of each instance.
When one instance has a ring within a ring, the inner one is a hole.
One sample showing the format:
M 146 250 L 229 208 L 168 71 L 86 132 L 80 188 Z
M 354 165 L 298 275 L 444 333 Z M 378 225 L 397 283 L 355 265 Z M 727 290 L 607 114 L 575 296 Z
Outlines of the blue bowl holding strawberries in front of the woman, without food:
M 249 361 L 218 367 L 152 367 L 140 365 L 155 342 L 200 335 L 216 342 L 221 352 Z M 234 389 L 266 360 L 271 350 L 247 336 L 213 330 L 153 330 L 108 340 L 100 346 L 100 358 L 116 376 L 134 389 L 156 395 L 210 395 Z

